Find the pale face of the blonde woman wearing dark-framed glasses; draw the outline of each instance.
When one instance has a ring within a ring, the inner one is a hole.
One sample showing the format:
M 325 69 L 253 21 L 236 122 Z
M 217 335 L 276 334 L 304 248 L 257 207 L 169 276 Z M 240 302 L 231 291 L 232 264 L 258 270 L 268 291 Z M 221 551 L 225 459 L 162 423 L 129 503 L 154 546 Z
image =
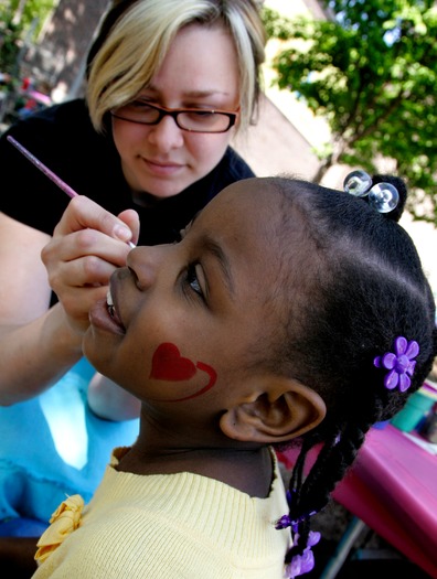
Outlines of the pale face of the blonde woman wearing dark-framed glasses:
M 236 111 L 238 66 L 232 37 L 218 26 L 182 29 L 138 98 L 167 108 Z M 177 195 L 206 175 L 222 159 L 233 130 L 193 133 L 180 129 L 170 116 L 149 126 L 113 117 L 114 141 L 128 184 L 134 192 L 156 197 Z

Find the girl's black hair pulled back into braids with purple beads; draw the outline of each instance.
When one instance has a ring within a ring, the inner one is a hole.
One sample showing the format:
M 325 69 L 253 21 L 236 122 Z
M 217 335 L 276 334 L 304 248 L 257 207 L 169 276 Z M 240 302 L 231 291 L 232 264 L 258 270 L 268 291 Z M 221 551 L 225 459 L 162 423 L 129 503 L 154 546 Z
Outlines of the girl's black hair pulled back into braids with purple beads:
M 270 363 L 287 373 L 287 361 L 292 361 L 294 377 L 327 405 L 322 422 L 299 440 L 287 493 L 289 513 L 277 524 L 291 527 L 294 546 L 286 564 L 287 577 L 295 577 L 313 565 L 308 562 L 315 544 L 311 514 L 328 504 L 370 427 L 392 418 L 423 385 L 437 353 L 437 330 L 433 292 L 419 256 L 397 223 L 407 196 L 403 180 L 372 178 L 373 184 L 391 183 L 399 195 L 393 211 L 379 213 L 367 197 L 274 179 L 284 196 L 281 242 L 292 267 L 285 280 L 290 322 L 284 324 L 285 339 L 280 336 Z M 305 224 L 297 244 L 296 221 Z M 294 246 L 299 256 L 292 255 Z M 374 364 L 375 357 L 393 351 L 398 336 L 419 346 L 405 392 L 384 387 L 387 371 Z M 307 454 L 315 447 L 317 459 L 305 476 Z

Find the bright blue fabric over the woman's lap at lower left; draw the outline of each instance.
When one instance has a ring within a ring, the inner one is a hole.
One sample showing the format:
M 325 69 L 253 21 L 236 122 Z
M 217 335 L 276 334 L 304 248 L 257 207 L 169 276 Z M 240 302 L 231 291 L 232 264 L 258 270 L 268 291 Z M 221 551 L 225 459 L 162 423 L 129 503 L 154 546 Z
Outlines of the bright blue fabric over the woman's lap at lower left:
M 89 501 L 111 450 L 135 442 L 139 419 L 113 422 L 89 409 L 94 372 L 83 358 L 41 396 L 0 408 L 0 521 L 11 534 L 25 535 L 26 519 L 46 524 L 66 495 Z

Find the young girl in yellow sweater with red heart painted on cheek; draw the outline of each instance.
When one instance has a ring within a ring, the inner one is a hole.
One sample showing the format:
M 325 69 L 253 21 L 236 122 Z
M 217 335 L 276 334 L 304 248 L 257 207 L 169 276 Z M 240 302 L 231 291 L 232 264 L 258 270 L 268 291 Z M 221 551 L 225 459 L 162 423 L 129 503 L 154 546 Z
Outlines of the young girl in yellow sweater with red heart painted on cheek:
M 403 182 L 359 173 L 347 191 L 244 180 L 178 244 L 130 251 L 83 345 L 141 400 L 140 435 L 115 450 L 88 505 L 74 495 L 54 513 L 35 579 L 279 579 L 312 568 L 311 515 L 437 351 L 431 291 L 396 223 Z M 89 207 L 72 201 L 60 243 L 79 243 L 68 223 L 87 223 Z M 294 439 L 286 501 L 271 450 Z

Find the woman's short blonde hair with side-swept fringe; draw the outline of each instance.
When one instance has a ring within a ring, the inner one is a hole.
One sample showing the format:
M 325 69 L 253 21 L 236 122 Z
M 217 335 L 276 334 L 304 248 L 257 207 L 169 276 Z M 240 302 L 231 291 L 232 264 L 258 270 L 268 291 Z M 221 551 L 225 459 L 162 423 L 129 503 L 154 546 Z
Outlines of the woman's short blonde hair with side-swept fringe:
M 239 128 L 254 121 L 266 43 L 254 0 L 114 1 L 88 55 L 86 99 L 97 131 L 105 130 L 110 109 L 150 83 L 178 32 L 192 23 L 223 25 L 231 34 L 239 71 Z

